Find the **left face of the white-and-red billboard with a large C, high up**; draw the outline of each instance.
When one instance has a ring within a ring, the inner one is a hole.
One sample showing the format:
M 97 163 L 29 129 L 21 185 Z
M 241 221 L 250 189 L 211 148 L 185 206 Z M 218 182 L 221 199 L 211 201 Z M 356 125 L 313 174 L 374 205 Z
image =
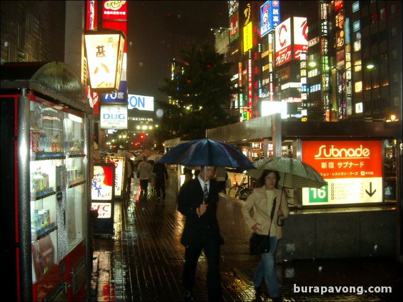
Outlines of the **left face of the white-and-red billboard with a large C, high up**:
M 275 63 L 280 66 L 291 61 L 291 18 L 276 26 Z

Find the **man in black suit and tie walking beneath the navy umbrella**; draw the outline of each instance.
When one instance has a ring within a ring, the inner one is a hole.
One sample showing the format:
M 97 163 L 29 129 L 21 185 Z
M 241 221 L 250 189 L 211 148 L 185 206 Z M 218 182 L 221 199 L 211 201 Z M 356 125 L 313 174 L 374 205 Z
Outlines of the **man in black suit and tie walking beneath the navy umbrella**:
M 219 183 L 212 179 L 215 172 L 216 167 L 202 167 L 198 177 L 185 182 L 178 195 L 178 211 L 186 217 L 180 239 L 180 243 L 185 246 L 183 265 L 185 301 L 193 300 L 194 276 L 202 249 L 209 266 L 207 271 L 209 301 L 223 300 L 219 265 L 220 245 L 224 243 L 224 240 L 220 235 L 217 220 L 218 193 L 221 190 Z M 205 185 L 208 190 L 207 198 L 204 197 Z

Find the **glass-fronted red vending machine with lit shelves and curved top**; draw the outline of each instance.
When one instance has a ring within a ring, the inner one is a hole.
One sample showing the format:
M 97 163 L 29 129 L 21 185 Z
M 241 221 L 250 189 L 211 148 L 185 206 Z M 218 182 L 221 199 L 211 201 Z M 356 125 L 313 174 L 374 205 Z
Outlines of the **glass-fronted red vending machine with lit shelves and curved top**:
M 67 64 L 1 66 L 4 259 L 18 301 L 89 299 L 92 112 Z

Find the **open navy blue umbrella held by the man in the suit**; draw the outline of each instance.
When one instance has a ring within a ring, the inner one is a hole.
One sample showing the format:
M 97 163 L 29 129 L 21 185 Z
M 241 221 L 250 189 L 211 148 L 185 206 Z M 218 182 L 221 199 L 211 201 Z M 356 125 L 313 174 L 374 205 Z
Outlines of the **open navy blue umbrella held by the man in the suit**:
M 183 166 L 228 167 L 241 172 L 255 169 L 252 162 L 239 149 L 210 138 L 194 139 L 178 144 L 157 162 Z

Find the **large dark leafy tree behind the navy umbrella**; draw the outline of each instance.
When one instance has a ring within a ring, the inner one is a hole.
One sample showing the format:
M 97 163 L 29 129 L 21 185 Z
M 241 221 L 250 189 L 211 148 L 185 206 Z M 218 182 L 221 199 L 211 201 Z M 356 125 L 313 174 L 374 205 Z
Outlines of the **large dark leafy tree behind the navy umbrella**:
M 169 103 L 158 102 L 163 116 L 155 136 L 160 141 L 203 138 L 206 129 L 239 121 L 228 113 L 234 92 L 225 56 L 208 43 L 193 44 L 181 54 L 181 60 L 174 61 L 173 80 L 164 79 L 159 88 L 169 98 Z

